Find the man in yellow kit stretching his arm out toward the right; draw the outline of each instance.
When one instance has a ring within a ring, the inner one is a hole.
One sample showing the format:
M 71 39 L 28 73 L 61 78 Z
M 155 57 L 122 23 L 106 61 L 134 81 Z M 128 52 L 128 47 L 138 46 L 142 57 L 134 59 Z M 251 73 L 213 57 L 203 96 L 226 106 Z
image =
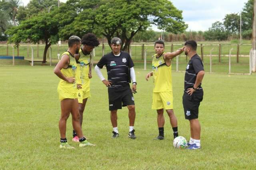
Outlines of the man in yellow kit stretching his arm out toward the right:
M 146 80 L 153 76 L 153 96 L 152 109 L 157 111 L 157 123 L 159 135 L 157 140 L 164 139 L 164 109 L 170 118 L 174 138 L 178 137 L 178 122 L 173 111 L 172 99 L 172 64 L 171 59 L 180 55 L 184 47 L 172 53 L 164 53 L 164 41 L 155 42 L 154 49 L 156 54 L 152 56 L 153 71 L 146 75 Z

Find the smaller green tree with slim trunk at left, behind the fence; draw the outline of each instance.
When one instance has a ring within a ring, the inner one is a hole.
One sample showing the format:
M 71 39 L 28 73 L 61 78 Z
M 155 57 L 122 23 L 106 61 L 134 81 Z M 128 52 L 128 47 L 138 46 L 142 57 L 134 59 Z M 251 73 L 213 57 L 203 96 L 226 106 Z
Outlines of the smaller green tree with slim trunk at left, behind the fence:
M 42 63 L 46 63 L 46 53 L 52 43 L 58 41 L 58 18 L 56 14 L 40 13 L 31 19 L 21 21 L 20 25 L 14 26 L 6 31 L 10 35 L 8 41 L 18 45 L 21 41 L 39 43 L 44 41 L 44 55 Z

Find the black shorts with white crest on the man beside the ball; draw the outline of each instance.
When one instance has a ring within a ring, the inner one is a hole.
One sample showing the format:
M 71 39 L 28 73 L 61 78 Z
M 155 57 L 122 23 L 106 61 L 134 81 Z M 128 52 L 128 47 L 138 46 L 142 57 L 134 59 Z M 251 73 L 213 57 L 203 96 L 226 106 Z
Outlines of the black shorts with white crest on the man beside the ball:
M 197 119 L 198 118 L 198 108 L 200 102 L 202 102 L 204 92 L 194 92 L 192 96 L 184 92 L 182 97 L 182 103 L 184 108 L 185 119 Z

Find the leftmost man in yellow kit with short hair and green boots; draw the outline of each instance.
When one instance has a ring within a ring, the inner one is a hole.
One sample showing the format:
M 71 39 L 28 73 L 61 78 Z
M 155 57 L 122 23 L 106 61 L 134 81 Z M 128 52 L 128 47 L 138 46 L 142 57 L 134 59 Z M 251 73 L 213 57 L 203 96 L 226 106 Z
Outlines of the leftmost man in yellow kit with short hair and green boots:
M 67 119 L 72 114 L 72 125 L 79 137 L 79 147 L 85 147 L 93 145 L 89 143 L 83 135 L 80 125 L 80 114 L 78 111 L 78 100 L 76 96 L 76 59 L 74 54 L 78 53 L 81 46 L 81 39 L 75 35 L 72 35 L 68 39 L 68 50 L 64 52 L 60 61 L 54 68 L 54 73 L 60 78 L 58 84 L 58 95 L 60 99 L 61 115 L 59 121 L 60 129 L 60 148 L 74 149 L 74 147 L 68 145 L 66 139 L 66 123 Z

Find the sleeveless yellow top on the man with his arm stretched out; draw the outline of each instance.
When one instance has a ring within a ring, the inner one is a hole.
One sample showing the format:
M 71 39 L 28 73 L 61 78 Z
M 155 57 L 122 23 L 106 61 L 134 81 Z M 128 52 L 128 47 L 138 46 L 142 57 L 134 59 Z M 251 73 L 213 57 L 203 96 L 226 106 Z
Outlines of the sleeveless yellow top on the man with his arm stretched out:
M 172 92 L 172 64 L 167 66 L 164 60 L 164 53 L 157 57 L 152 56 L 153 69 L 153 92 Z

